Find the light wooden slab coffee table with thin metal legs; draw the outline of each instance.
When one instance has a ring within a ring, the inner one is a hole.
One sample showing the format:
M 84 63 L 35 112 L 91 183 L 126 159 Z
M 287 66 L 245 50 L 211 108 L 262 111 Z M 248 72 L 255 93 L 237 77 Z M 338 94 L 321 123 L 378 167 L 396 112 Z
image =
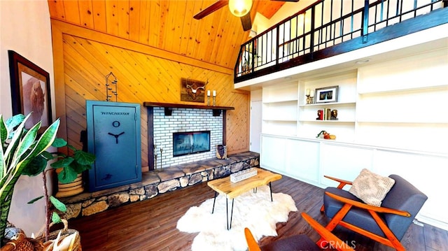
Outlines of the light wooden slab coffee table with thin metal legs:
M 217 180 L 211 180 L 207 182 L 207 185 L 211 187 L 211 189 L 214 189 L 215 191 L 215 198 L 213 201 L 213 209 L 211 210 L 211 213 L 214 213 L 215 210 L 215 201 L 216 196 L 219 194 L 223 194 L 225 196 L 225 213 L 227 216 L 227 229 L 229 230 L 232 228 L 232 215 L 233 215 L 233 202 L 235 200 L 235 197 L 243 194 L 244 192 L 248 192 L 251 189 L 254 189 L 254 192 L 256 192 L 256 188 L 260 187 L 262 185 L 269 184 L 269 190 L 271 194 L 271 201 L 272 201 L 272 186 L 271 182 L 275 180 L 280 180 L 281 175 L 278 173 L 272 173 L 270 171 L 261 169 L 261 168 L 255 168 L 257 169 L 257 175 L 252 176 L 251 178 L 247 178 L 246 180 L 241 180 L 239 182 L 231 182 L 230 176 L 217 179 Z M 228 209 L 228 199 L 232 199 L 232 210 L 230 212 L 230 222 L 229 222 L 229 209 Z

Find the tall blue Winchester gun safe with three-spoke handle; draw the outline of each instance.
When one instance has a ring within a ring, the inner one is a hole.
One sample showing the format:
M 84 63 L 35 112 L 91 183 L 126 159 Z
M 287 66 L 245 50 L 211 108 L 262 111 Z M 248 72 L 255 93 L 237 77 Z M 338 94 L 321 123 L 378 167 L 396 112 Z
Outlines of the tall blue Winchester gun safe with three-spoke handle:
M 89 191 L 141 181 L 140 105 L 86 101 Z

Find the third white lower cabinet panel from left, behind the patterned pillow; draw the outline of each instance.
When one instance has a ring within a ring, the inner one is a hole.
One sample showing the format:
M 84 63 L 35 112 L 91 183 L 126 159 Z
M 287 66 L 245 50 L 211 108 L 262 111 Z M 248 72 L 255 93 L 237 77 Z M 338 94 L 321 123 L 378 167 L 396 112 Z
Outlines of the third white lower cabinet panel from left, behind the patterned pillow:
M 321 143 L 321 185 L 336 187 L 339 182 L 323 175 L 354 180 L 363 168 L 372 169 L 373 150 L 356 146 Z M 344 187 L 349 189 L 349 186 Z

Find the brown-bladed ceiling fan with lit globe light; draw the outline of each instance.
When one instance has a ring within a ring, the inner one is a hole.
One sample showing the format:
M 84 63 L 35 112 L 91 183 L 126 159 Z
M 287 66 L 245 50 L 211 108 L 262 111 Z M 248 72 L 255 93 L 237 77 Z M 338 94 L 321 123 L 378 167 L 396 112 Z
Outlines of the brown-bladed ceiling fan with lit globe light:
M 257 0 L 255 0 L 257 1 Z M 271 1 L 294 1 L 297 2 L 299 0 L 271 0 Z M 238 8 L 238 4 L 242 3 L 241 8 Z M 252 0 L 218 0 L 216 3 L 213 3 L 211 6 L 204 8 L 204 10 L 197 13 L 193 18 L 196 20 L 200 20 L 211 13 L 214 13 L 216 10 L 223 8 L 224 6 L 229 6 L 230 12 L 233 15 L 236 15 L 241 19 L 241 24 L 243 26 L 244 31 L 248 31 L 252 28 L 252 20 L 251 20 L 251 8 L 252 8 Z

